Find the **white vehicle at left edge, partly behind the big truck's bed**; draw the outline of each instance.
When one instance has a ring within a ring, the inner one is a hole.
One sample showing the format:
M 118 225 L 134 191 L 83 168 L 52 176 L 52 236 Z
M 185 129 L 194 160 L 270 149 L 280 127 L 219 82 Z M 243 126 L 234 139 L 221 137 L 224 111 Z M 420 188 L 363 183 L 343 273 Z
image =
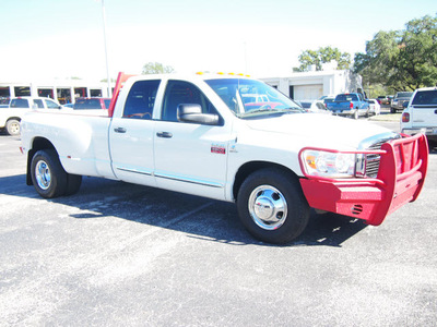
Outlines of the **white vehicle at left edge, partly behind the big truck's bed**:
M 9 135 L 20 135 L 20 122 L 32 109 L 55 109 L 62 106 L 50 98 L 17 97 L 12 98 L 9 106 L 0 108 L 0 129 L 5 129 Z

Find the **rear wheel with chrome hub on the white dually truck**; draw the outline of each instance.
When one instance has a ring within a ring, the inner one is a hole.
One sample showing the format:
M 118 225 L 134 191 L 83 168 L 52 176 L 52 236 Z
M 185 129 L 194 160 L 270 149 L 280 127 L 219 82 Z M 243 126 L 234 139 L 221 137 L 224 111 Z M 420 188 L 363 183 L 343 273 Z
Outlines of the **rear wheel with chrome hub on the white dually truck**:
M 32 158 L 31 177 L 34 187 L 45 198 L 66 194 L 68 173 L 54 149 L 38 150 Z

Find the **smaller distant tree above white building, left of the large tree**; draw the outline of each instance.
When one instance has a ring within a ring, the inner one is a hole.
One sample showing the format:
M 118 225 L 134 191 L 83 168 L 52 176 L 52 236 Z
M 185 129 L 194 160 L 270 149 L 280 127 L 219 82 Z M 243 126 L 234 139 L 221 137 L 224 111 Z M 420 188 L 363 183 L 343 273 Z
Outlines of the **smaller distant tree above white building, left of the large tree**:
M 338 48 L 324 47 L 318 50 L 305 50 L 299 56 L 300 65 L 294 71 L 307 72 L 311 65 L 316 65 L 316 71 L 323 69 L 322 64 L 336 61 L 338 70 L 347 70 L 351 66 L 351 55 L 341 52 Z

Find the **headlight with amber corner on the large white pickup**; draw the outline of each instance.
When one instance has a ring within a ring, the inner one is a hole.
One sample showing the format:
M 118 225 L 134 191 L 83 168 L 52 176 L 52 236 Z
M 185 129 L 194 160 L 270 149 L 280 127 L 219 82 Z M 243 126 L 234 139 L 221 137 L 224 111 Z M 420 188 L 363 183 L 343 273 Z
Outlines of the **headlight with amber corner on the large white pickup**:
M 355 175 L 355 154 L 330 153 L 307 149 L 300 158 L 307 174 L 327 178 L 351 178 Z

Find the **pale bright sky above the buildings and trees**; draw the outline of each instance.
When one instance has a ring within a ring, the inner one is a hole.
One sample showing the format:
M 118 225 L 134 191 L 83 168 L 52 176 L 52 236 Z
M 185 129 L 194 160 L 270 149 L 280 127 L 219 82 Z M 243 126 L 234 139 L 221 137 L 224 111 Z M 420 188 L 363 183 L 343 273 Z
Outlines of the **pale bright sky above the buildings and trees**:
M 105 35 L 111 78 L 147 62 L 287 76 L 305 50 L 353 58 L 379 31 L 425 15 L 436 0 L 0 0 L 0 82 L 106 78 Z

